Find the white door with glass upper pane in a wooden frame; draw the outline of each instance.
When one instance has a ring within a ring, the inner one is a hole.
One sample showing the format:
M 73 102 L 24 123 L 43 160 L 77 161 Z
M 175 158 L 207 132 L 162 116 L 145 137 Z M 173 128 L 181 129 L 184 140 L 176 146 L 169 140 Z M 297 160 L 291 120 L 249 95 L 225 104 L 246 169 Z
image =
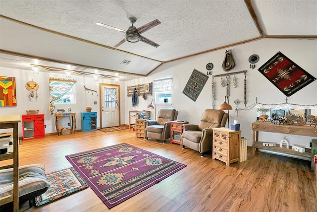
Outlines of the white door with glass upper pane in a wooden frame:
M 119 87 L 102 85 L 101 90 L 102 128 L 119 126 Z

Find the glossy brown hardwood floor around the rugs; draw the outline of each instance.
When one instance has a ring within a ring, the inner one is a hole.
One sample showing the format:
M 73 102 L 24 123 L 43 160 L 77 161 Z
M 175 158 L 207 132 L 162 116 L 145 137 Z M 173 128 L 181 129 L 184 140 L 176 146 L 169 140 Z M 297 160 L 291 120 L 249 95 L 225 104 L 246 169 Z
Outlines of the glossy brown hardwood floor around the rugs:
M 187 167 L 108 210 L 90 189 L 25 212 L 316 212 L 317 187 L 310 161 L 257 152 L 226 166 L 211 153 L 135 138 L 132 130 L 49 135 L 19 145 L 20 165 L 41 163 L 46 173 L 70 167 L 65 155 L 126 142 Z M 4 164 L 2 161 L 1 164 Z

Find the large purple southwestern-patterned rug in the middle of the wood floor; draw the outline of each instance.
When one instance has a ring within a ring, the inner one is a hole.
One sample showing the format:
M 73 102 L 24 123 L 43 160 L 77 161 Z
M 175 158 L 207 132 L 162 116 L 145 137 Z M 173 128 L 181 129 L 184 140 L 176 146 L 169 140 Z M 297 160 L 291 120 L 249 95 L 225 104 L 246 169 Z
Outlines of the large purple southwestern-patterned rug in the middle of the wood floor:
M 109 209 L 186 167 L 127 143 L 65 157 Z

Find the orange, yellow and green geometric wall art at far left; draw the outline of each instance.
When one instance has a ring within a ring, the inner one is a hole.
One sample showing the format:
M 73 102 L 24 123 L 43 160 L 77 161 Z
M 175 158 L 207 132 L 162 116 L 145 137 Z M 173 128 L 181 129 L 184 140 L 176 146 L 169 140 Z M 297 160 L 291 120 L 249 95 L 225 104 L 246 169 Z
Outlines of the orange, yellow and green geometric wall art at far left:
M 15 77 L 0 76 L 0 107 L 16 106 Z

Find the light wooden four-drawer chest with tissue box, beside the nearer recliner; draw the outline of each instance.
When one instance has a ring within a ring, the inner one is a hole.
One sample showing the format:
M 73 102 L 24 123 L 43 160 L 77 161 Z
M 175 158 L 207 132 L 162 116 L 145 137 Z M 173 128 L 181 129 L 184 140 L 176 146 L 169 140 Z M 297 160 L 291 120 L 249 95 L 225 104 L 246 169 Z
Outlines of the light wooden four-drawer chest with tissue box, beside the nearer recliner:
M 225 162 L 227 166 L 240 161 L 241 131 L 229 128 L 213 128 L 212 159 Z

